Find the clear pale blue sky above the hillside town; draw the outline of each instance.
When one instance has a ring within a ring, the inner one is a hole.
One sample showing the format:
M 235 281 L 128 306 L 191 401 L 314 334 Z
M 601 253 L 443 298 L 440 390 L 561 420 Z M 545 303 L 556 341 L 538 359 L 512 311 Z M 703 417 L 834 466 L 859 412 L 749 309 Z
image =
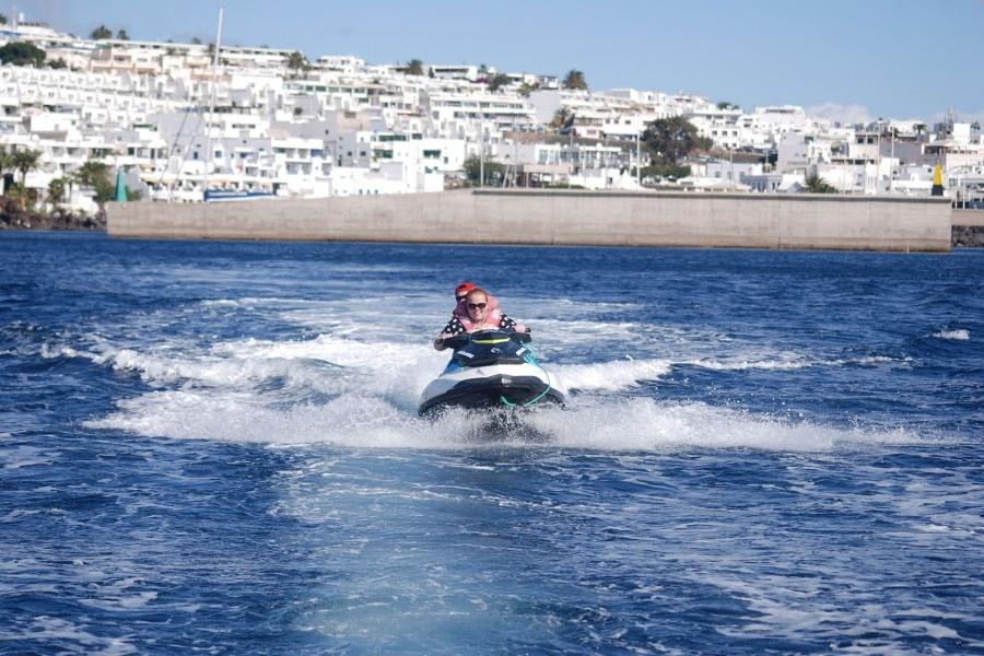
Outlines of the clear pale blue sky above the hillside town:
M 215 38 L 219 0 L 21 0 L 80 36 Z M 224 0 L 224 44 L 485 63 L 845 119 L 984 121 L 984 0 Z M 0 9 L 11 14 L 12 3 Z

